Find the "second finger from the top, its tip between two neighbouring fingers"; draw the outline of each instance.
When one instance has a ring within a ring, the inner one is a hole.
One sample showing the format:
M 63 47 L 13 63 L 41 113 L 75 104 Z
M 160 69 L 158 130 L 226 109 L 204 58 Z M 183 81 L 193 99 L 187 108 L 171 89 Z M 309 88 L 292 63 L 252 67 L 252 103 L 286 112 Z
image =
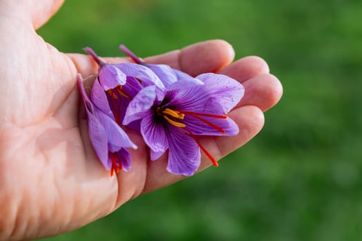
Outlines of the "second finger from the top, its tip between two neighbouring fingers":
M 218 74 L 228 75 L 240 83 L 259 74 L 268 73 L 268 64 L 258 56 L 247 56 L 243 59 L 239 59 L 238 61 L 225 66 L 218 72 Z

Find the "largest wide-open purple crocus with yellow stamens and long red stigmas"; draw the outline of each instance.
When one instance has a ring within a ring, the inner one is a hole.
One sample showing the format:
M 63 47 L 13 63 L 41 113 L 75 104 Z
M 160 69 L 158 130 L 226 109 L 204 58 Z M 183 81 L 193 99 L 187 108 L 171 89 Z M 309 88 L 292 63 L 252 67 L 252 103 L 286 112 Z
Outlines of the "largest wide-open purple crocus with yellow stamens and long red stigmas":
M 141 120 L 141 134 L 150 147 L 151 160 L 169 150 L 167 170 L 172 174 L 194 174 L 200 165 L 200 149 L 218 166 L 197 136 L 233 136 L 239 132 L 226 114 L 241 100 L 243 85 L 221 74 L 196 78 L 203 85 L 165 89 L 163 94 L 158 94 L 162 90 L 155 85 L 144 87 L 130 101 L 123 119 L 123 125 Z M 182 86 L 182 79 L 178 81 Z

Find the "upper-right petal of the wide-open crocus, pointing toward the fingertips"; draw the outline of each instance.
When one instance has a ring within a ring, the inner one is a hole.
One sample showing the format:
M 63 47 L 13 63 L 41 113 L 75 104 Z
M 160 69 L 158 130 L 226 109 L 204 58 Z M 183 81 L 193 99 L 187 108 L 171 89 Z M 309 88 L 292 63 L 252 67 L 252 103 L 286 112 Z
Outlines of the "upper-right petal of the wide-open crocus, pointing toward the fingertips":
M 197 76 L 205 85 L 204 91 L 208 92 L 209 100 L 206 105 L 219 103 L 226 113 L 239 103 L 244 95 L 244 87 L 238 81 L 223 74 L 200 74 Z

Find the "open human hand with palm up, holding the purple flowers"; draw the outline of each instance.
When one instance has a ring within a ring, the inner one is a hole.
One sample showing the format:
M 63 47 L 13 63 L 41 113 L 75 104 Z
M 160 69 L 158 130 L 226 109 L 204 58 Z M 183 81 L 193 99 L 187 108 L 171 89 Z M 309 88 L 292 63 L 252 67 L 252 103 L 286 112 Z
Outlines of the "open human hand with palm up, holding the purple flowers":
M 76 87 L 77 72 L 97 74 L 97 65 L 90 56 L 59 52 L 34 32 L 61 3 L 28 0 L 19 8 L 17 1 L 0 0 L 0 240 L 65 233 L 183 178 L 165 171 L 165 157 L 151 163 L 136 132 L 129 132 L 139 147 L 130 150 L 130 172 L 110 178 L 97 160 Z M 145 59 L 193 76 L 218 72 L 243 83 L 245 96 L 230 112 L 239 135 L 200 138 L 217 159 L 255 136 L 263 112 L 282 94 L 265 61 L 250 56 L 232 63 L 233 58 L 228 43 L 214 40 Z M 209 165 L 203 156 L 200 171 Z

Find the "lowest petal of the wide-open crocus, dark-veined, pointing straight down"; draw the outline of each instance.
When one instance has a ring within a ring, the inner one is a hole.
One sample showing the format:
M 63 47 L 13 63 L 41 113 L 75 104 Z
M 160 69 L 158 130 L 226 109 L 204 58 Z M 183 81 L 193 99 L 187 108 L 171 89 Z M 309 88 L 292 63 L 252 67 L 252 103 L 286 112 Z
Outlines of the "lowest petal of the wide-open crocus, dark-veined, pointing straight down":
M 172 174 L 192 176 L 201 162 L 200 148 L 194 139 L 179 127 L 171 127 L 168 132 L 168 166 Z

